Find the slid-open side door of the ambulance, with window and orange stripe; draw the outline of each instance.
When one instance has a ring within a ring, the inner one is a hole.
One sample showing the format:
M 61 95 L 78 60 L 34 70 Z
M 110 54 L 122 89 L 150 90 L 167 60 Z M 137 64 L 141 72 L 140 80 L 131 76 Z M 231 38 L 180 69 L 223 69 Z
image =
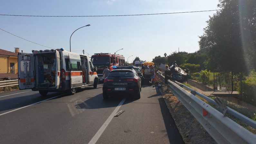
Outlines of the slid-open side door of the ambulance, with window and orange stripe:
M 70 83 L 71 88 L 80 87 L 83 84 L 81 58 L 79 54 L 69 53 L 71 66 Z

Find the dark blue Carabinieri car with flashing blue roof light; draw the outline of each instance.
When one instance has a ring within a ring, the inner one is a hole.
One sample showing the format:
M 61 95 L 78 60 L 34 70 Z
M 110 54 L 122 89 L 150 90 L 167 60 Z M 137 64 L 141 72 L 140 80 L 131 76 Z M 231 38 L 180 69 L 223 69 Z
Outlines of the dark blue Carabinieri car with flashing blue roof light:
M 103 98 L 108 99 L 109 95 L 133 95 L 140 98 L 141 78 L 132 66 L 113 67 L 109 75 L 104 79 Z

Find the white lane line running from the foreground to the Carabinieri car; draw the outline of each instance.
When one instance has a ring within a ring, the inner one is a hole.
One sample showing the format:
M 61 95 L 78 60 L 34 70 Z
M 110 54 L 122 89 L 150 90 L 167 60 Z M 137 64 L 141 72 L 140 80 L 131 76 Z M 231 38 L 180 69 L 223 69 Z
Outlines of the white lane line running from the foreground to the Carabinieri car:
M 93 136 L 93 138 L 90 140 L 90 142 L 88 144 L 95 144 L 99 140 L 101 134 L 103 133 L 103 131 L 105 131 L 105 129 L 107 128 L 107 126 L 109 125 L 111 120 L 113 119 L 114 115 L 117 113 L 117 111 L 122 106 L 122 104 L 125 102 L 125 100 L 126 100 L 126 97 L 118 104 L 118 106 L 115 108 L 115 110 L 109 115 L 109 118 L 106 120 L 106 122 L 103 123 L 103 125 L 100 127 L 99 131 L 97 131 L 97 133 Z

